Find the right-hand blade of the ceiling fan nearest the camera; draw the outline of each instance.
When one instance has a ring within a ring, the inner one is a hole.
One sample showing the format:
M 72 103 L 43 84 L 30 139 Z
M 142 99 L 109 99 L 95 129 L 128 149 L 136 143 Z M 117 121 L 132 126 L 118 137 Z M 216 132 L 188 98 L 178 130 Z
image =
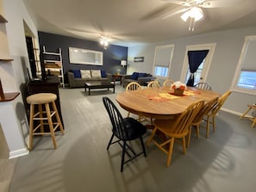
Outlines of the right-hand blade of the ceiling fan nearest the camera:
M 232 7 L 234 5 L 243 3 L 244 0 L 209 0 L 204 1 L 200 4 L 203 8 L 222 8 L 222 7 Z

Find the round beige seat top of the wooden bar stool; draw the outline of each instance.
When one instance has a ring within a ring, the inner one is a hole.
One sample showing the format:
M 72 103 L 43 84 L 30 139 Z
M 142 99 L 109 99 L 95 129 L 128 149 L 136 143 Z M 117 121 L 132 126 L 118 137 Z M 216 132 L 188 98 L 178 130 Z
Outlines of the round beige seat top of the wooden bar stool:
M 54 102 L 57 96 L 53 93 L 37 93 L 27 97 L 29 104 L 44 104 L 48 102 Z

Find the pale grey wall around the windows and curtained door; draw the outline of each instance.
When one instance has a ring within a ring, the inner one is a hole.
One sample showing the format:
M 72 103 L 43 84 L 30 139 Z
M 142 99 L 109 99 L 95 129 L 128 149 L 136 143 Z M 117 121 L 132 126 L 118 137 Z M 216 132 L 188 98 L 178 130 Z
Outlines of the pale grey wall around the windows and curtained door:
M 234 71 L 240 58 L 245 36 L 255 34 L 256 27 L 239 28 L 169 40 L 147 46 L 130 46 L 128 47 L 128 74 L 131 74 L 133 71 L 147 71 L 152 73 L 155 46 L 173 44 L 174 53 L 170 77 L 173 80 L 179 80 L 186 46 L 216 43 L 215 54 L 206 81 L 212 86 L 213 90 L 222 94 L 229 90 L 232 84 Z M 137 56 L 144 56 L 144 63 L 134 63 L 133 59 Z M 233 92 L 228 97 L 228 101 L 224 104 L 223 108 L 230 110 L 234 114 L 240 114 L 247 109 L 248 103 L 255 102 L 256 96 Z

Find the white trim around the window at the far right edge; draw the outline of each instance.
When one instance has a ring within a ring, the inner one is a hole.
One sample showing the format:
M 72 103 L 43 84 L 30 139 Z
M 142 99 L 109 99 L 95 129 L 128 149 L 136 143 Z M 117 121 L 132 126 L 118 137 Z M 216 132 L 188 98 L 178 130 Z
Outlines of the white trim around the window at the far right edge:
M 238 60 L 236 70 L 234 72 L 234 78 L 233 78 L 230 90 L 234 91 L 234 92 L 245 93 L 245 94 L 248 94 L 248 95 L 256 96 L 256 91 L 255 90 L 243 89 L 243 88 L 240 88 L 240 87 L 236 86 L 236 84 L 238 82 L 238 79 L 240 77 L 240 70 L 241 70 L 242 65 L 244 63 L 244 60 L 246 58 L 247 48 L 249 46 L 250 40 L 256 40 L 256 35 L 245 37 L 245 42 L 244 42 L 244 45 L 243 45 L 242 50 L 240 52 L 240 59 Z

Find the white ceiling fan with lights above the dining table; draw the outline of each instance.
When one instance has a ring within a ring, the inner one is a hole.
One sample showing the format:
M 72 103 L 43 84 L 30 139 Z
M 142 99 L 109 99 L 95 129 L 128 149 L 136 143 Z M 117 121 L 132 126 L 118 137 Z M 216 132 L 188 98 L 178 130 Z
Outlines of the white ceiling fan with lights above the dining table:
M 203 19 L 203 9 L 208 8 L 221 8 L 230 7 L 237 3 L 242 3 L 243 0 L 162 0 L 166 3 L 174 3 L 181 5 L 184 8 L 179 8 L 171 13 L 168 13 L 162 17 L 166 19 L 172 15 L 183 13 L 180 17 L 186 22 L 190 20 L 189 30 L 194 31 L 195 23 Z

